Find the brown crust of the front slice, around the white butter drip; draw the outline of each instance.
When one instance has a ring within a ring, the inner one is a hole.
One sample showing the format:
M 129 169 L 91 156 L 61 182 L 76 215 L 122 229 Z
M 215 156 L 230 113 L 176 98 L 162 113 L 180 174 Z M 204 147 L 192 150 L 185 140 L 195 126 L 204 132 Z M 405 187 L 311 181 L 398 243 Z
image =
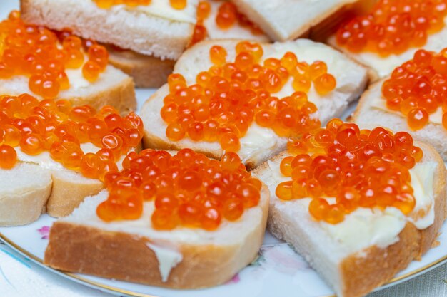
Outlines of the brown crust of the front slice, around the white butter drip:
M 51 227 L 44 263 L 55 269 L 87 273 L 167 288 L 205 288 L 229 281 L 253 261 L 262 244 L 269 192 L 261 192 L 261 222 L 243 242 L 228 245 L 176 244 L 71 222 Z M 183 259 L 162 281 L 159 261 L 147 244 L 176 246 Z M 126 265 L 123 265 L 126 264 Z

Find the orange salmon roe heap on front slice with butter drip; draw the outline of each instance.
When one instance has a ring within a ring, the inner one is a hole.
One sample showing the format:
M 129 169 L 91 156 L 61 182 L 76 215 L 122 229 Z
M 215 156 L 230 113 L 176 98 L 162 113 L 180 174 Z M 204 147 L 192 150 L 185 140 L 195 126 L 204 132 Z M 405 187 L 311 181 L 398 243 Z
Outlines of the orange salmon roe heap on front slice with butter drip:
M 174 156 L 161 150 L 131 152 L 123 170 L 106 174 L 104 183 L 110 194 L 96 209 L 101 219 L 139 219 L 144 202 L 154 201 L 151 224 L 157 230 L 215 230 L 224 219 L 239 219 L 261 199 L 261 182 L 233 152 L 220 161 L 190 149 Z

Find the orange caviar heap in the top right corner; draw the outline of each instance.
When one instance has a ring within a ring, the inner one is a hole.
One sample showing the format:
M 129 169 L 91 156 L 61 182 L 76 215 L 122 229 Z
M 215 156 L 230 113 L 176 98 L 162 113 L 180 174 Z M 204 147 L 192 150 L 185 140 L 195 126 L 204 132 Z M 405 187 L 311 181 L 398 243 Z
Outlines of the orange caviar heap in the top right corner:
M 429 34 L 442 30 L 446 15 L 446 0 L 380 0 L 370 14 L 341 26 L 336 40 L 353 53 L 400 54 L 424 46 Z

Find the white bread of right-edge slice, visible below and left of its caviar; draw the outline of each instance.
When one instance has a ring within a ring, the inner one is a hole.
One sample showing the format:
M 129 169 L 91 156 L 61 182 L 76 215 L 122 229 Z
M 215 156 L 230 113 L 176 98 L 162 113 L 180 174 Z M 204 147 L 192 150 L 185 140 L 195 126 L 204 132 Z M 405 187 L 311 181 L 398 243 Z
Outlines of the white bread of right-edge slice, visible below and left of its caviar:
M 443 160 L 447 161 L 447 130 L 441 123 L 431 121 L 421 130 L 411 130 L 403 113 L 386 108 L 386 100 L 383 99 L 381 91 L 383 81 L 374 83 L 363 93 L 356 111 L 353 113 L 353 122 L 362 127 L 386 125 L 395 131 L 411 133 L 416 140 L 433 145 Z

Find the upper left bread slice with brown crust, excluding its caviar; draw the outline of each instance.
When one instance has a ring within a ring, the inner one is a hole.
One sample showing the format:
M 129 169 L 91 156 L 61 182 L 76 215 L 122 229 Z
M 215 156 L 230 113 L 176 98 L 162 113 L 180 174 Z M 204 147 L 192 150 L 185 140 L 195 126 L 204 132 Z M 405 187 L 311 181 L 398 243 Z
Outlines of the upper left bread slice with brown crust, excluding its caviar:
M 136 97 L 132 78 L 114 66 L 107 66 L 94 83 L 82 76 L 81 68 L 67 69 L 66 74 L 70 81 L 68 90 L 61 90 L 56 100 L 69 100 L 72 105 L 91 105 L 99 109 L 104 105 L 111 105 L 120 113 L 128 113 L 136 110 Z M 0 94 L 20 95 L 33 94 L 29 90 L 29 78 L 24 75 L 14 75 L 9 79 L 0 79 Z

